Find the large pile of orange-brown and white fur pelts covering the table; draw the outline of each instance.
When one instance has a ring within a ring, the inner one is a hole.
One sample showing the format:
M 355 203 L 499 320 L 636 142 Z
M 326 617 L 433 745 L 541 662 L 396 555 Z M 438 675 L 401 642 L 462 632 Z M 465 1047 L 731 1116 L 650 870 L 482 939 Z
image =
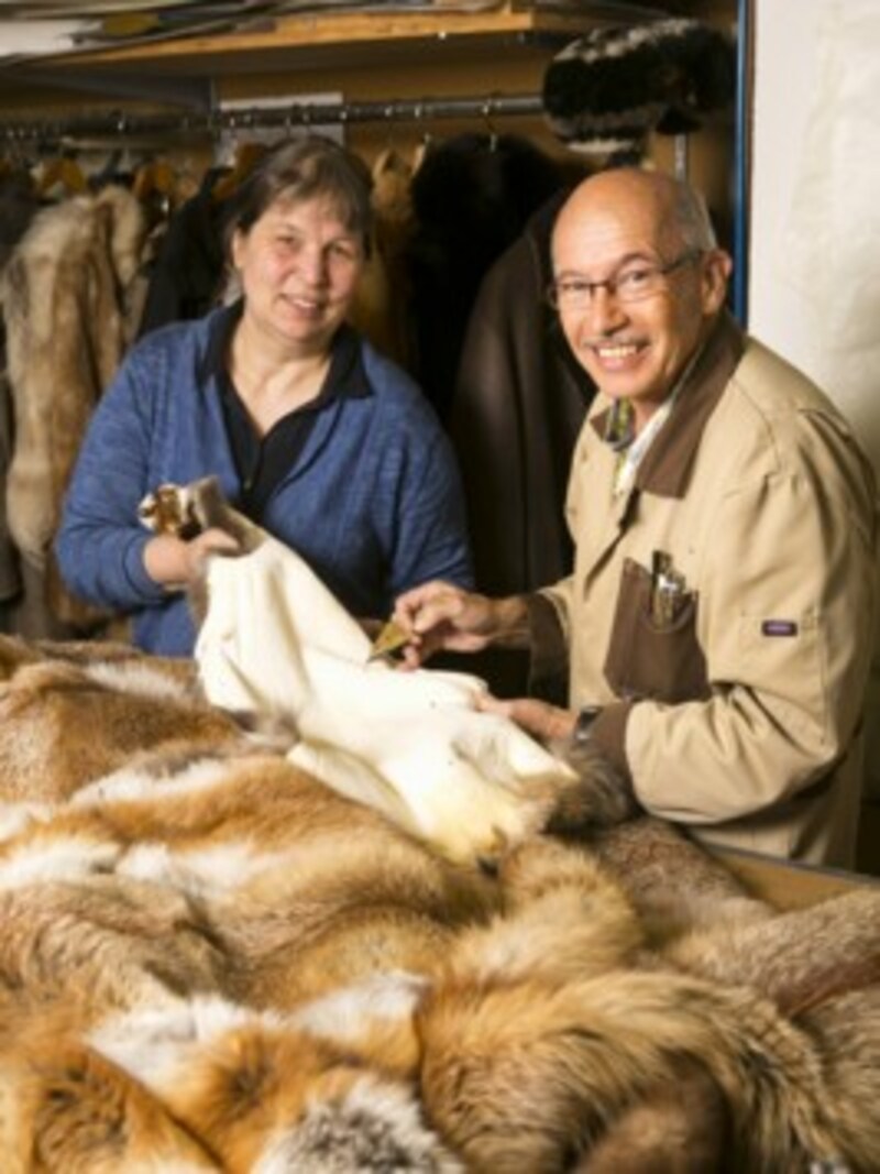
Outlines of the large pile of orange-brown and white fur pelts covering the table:
M 454 864 L 113 646 L 0 639 L 0 789 L 5 1174 L 880 1169 L 878 890 Z

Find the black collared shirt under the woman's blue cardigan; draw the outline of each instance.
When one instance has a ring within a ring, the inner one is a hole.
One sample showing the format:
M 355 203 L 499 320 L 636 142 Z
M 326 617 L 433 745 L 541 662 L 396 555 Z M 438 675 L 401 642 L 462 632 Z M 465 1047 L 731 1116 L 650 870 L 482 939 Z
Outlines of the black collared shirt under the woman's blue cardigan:
M 217 382 L 223 419 L 242 481 L 239 508 L 255 521 L 260 520 L 273 490 L 296 465 L 318 413 L 338 399 L 370 394 L 360 339 L 345 324 L 333 337 L 330 370 L 318 396 L 283 416 L 264 437 L 253 427 L 223 359 L 218 363 Z

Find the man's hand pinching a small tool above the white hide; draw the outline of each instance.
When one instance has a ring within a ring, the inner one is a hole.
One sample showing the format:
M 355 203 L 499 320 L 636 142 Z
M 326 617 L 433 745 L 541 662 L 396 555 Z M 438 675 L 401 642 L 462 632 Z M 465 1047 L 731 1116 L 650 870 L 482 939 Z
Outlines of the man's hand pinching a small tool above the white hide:
M 418 668 L 440 649 L 478 653 L 495 642 L 528 637 L 528 614 L 519 596 L 487 599 L 439 581 L 400 595 L 394 620 L 409 633 L 404 649 L 407 668 Z

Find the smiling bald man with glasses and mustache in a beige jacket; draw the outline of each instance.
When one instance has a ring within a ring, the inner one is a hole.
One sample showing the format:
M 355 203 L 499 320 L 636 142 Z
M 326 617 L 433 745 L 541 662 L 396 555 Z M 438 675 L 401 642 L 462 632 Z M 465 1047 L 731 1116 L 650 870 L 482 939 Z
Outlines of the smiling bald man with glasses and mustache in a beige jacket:
M 560 212 L 553 264 L 600 389 L 569 483 L 574 573 L 534 596 L 407 592 L 407 660 L 527 646 L 540 676 L 567 653 L 570 708 L 487 707 L 593 745 L 644 809 L 700 838 L 852 865 L 869 465 L 825 396 L 725 311 L 731 262 L 685 185 L 593 176 Z

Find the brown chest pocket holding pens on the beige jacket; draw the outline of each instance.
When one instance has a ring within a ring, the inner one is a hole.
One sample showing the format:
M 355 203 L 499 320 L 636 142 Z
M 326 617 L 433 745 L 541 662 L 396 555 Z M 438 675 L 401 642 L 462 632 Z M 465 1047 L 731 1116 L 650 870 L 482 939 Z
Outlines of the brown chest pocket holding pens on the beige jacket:
M 697 594 L 681 591 L 658 619 L 650 572 L 627 559 L 621 575 L 605 680 L 618 697 L 676 703 L 710 694 L 706 661 L 697 642 Z

